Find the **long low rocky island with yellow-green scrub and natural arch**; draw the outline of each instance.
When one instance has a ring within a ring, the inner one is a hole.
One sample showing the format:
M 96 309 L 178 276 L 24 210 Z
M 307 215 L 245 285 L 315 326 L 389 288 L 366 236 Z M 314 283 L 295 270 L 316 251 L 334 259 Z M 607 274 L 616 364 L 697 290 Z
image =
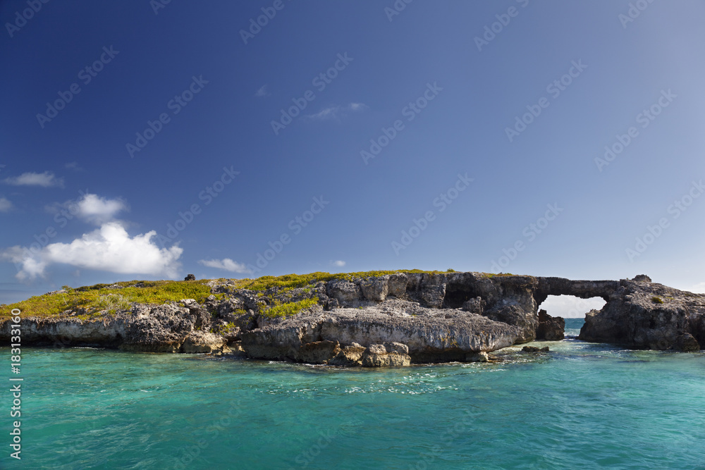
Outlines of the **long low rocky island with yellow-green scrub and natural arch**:
M 206 352 L 334 366 L 486 361 L 488 352 L 563 339 L 549 295 L 602 297 L 581 340 L 630 348 L 705 346 L 705 295 L 632 280 L 475 272 L 374 271 L 255 280 L 132 281 L 1 306 L 0 345 L 20 311 L 23 345 Z

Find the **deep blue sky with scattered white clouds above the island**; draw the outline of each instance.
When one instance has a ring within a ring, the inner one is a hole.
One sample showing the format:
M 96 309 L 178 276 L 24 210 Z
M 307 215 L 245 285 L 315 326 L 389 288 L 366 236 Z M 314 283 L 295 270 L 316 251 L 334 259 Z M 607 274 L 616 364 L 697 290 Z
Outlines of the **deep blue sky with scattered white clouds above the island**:
M 704 16 L 0 2 L 0 302 L 396 268 L 705 292 Z

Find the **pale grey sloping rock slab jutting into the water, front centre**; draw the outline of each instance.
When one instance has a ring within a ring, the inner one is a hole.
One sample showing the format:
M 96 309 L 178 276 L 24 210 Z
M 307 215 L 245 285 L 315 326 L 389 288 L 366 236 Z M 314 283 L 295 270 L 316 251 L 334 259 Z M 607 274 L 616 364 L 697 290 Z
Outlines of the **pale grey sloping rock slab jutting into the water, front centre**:
M 410 361 L 441 362 L 464 361 L 471 352 L 498 350 L 512 345 L 517 335 L 517 328 L 477 314 L 388 300 L 362 309 L 300 314 L 243 333 L 242 345 L 255 359 L 305 361 L 301 349 L 305 344 L 334 342 L 340 351 L 331 347 L 329 357 L 315 363 L 337 365 L 362 361 L 360 347 L 401 344 L 407 348 L 404 354 Z M 399 350 L 396 353 L 400 354 Z

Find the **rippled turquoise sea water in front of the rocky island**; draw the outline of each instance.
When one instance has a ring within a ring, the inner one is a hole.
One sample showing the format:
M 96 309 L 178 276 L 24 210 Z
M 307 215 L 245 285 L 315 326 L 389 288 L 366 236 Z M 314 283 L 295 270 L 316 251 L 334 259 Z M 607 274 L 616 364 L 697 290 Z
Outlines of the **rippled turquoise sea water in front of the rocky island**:
M 705 469 L 705 354 L 537 345 L 375 370 L 27 349 L 22 460 L 6 392 L 0 467 Z

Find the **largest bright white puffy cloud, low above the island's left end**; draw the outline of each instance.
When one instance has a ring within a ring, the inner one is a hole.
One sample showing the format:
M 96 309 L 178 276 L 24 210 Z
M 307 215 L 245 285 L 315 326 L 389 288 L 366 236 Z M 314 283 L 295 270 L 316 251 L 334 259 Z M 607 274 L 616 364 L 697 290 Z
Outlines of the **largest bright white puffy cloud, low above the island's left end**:
M 120 223 L 111 222 L 71 243 L 51 243 L 39 252 L 15 246 L 6 249 L 1 256 L 21 265 L 16 275 L 20 280 L 44 276 L 47 266 L 56 263 L 111 273 L 176 278 L 183 248 L 174 245 L 160 249 L 152 242 L 156 235 L 152 230 L 130 238 Z

